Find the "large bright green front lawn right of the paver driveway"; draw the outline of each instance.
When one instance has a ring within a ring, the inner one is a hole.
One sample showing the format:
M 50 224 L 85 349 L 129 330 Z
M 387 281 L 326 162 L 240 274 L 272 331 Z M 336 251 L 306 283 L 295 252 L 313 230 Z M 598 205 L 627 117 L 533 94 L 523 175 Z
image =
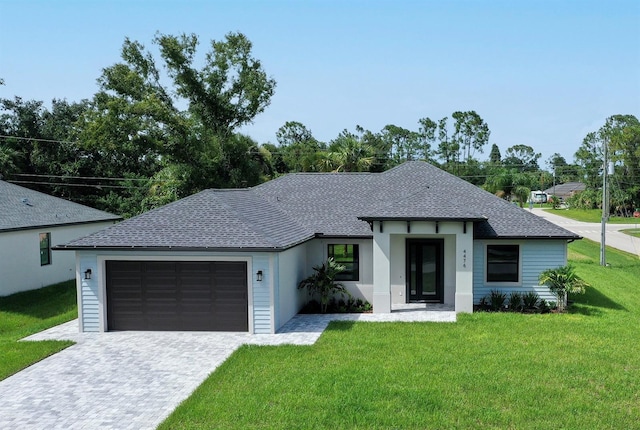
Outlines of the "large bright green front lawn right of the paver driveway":
M 566 314 L 334 322 L 312 346 L 244 346 L 162 429 L 639 428 L 640 264 L 581 240 Z

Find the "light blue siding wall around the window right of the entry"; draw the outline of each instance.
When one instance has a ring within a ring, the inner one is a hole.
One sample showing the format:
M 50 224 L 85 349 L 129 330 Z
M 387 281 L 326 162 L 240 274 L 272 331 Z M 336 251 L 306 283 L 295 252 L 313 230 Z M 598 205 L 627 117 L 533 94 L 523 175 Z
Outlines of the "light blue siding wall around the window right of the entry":
M 520 283 L 517 285 L 487 284 L 485 277 L 487 244 L 520 245 Z M 512 291 L 535 291 L 542 299 L 556 301 L 556 296 L 547 287 L 539 285 L 538 276 L 546 269 L 565 264 L 567 264 L 567 242 L 564 240 L 476 240 L 473 245 L 473 303 L 478 304 L 482 297 L 491 293 L 491 290 L 499 290 L 507 294 Z

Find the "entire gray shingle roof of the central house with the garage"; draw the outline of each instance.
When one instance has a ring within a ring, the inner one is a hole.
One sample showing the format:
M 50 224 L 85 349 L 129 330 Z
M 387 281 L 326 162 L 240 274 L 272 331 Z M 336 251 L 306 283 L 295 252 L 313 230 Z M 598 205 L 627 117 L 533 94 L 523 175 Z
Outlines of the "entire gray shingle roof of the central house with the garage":
M 294 173 L 249 189 L 207 190 L 65 247 L 285 249 L 315 236 L 372 237 L 375 220 L 469 221 L 476 238 L 579 237 L 414 161 L 382 173 Z

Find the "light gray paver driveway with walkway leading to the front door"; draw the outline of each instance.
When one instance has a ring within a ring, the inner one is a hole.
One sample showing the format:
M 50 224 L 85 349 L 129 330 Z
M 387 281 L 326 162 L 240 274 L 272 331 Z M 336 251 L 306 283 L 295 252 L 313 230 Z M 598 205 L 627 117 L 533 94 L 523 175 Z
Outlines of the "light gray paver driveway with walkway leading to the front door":
M 443 305 L 297 315 L 273 335 L 78 333 L 71 321 L 28 338 L 77 343 L 0 381 L 0 429 L 155 429 L 241 345 L 310 345 L 331 320 L 451 322 L 456 315 Z

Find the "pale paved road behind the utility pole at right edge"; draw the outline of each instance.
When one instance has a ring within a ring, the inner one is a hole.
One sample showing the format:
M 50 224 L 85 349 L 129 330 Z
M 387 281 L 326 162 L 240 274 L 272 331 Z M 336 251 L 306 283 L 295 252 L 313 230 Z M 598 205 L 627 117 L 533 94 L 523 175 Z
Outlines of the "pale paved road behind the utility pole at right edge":
M 533 213 L 582 237 L 600 243 L 600 223 L 574 221 L 570 218 L 554 215 L 552 212 L 540 208 L 534 208 Z M 640 238 L 620 232 L 620 230 L 627 228 L 640 228 L 640 219 L 638 220 L 638 224 L 607 224 L 605 244 L 612 248 L 637 255 L 638 258 L 640 258 Z

